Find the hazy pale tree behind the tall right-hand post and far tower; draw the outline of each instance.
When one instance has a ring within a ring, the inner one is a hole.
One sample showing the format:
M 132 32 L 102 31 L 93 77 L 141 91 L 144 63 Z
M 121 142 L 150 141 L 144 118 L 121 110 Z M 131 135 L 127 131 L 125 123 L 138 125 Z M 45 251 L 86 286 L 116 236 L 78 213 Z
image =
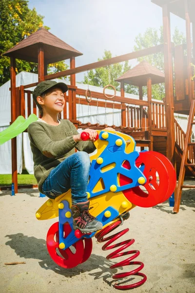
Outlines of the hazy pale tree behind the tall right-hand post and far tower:
M 186 43 L 186 38 L 183 33 L 179 32 L 178 28 L 175 28 L 173 38 L 175 45 Z M 141 49 L 146 49 L 163 43 L 163 27 L 161 26 L 159 30 L 156 28 L 147 28 L 143 35 L 138 34 L 135 39 L 136 45 L 134 50 L 138 51 Z M 164 72 L 164 56 L 163 53 L 156 53 L 153 55 L 148 55 L 140 57 L 137 59 L 138 62 L 147 61 L 151 65 L 155 66 L 162 72 Z M 143 87 L 143 94 L 147 94 L 146 87 Z M 154 84 L 152 86 L 152 97 L 157 100 L 162 100 L 165 96 L 165 85 L 164 84 Z

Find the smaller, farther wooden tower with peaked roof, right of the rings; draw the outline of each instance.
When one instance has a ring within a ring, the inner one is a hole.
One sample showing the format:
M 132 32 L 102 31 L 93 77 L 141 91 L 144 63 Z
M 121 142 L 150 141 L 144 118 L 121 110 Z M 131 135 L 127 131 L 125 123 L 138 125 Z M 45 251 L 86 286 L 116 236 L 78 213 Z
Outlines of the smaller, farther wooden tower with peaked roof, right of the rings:
M 140 131 L 131 132 L 131 135 L 135 138 L 137 146 L 148 146 L 150 150 L 154 150 L 154 138 L 156 138 L 157 141 L 160 137 L 164 137 L 165 135 L 165 111 L 160 104 L 158 105 L 159 111 L 155 111 L 155 109 L 152 111 L 152 107 L 154 107 L 152 103 L 152 84 L 164 83 L 164 73 L 152 66 L 150 63 L 142 61 L 121 77 L 117 78 L 116 81 L 120 83 L 121 97 L 124 97 L 125 84 L 131 84 L 139 88 L 139 100 L 142 101 L 143 86 L 147 86 L 148 107 L 147 112 L 145 113 L 148 120 L 147 127 L 141 125 Z M 141 117 L 143 116 L 144 111 L 143 107 L 140 106 Z M 157 127 L 155 125 L 155 118 L 157 118 L 156 120 L 159 122 L 159 126 Z M 146 131 L 144 131 L 144 128 Z M 141 132 L 143 132 L 144 135 L 141 136 Z M 166 155 L 166 146 L 165 149 L 161 149 L 161 152 Z

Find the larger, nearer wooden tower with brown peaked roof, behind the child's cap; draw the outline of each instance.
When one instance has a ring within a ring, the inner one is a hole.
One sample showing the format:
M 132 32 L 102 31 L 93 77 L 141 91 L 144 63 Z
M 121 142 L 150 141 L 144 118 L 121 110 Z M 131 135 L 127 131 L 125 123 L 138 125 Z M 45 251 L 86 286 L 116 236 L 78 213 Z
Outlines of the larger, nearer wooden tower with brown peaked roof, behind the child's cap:
M 11 59 L 11 123 L 13 123 L 18 116 L 17 103 L 20 103 L 20 101 L 17 101 L 16 99 L 16 59 L 38 63 L 39 83 L 44 81 L 44 76 L 47 75 L 47 64 L 70 59 L 70 68 L 75 68 L 75 57 L 82 55 L 82 53 L 41 27 L 35 33 L 19 42 L 16 46 L 2 55 L 8 56 Z M 28 87 L 35 86 L 38 83 L 29 84 Z M 76 84 L 75 75 L 71 75 L 71 84 L 73 86 Z M 23 113 L 23 107 L 21 110 L 20 114 Z M 17 193 L 16 137 L 12 139 L 12 183 L 14 183 L 15 193 Z

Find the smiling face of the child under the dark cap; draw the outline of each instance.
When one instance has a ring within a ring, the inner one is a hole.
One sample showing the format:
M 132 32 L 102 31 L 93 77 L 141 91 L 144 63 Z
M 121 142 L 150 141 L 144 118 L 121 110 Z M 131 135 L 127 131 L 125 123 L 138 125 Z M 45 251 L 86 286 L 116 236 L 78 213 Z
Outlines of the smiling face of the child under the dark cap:
M 64 94 L 60 88 L 52 88 L 44 98 L 39 97 L 38 102 L 44 113 L 59 113 L 65 105 Z

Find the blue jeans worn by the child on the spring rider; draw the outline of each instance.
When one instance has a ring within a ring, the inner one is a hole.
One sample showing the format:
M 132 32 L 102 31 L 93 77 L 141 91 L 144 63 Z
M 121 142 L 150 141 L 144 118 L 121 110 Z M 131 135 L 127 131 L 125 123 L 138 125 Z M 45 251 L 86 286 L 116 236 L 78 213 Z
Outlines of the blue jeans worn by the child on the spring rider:
M 71 188 L 73 205 L 86 202 L 90 166 L 88 153 L 74 153 L 51 170 L 42 185 L 43 193 L 54 199 Z

